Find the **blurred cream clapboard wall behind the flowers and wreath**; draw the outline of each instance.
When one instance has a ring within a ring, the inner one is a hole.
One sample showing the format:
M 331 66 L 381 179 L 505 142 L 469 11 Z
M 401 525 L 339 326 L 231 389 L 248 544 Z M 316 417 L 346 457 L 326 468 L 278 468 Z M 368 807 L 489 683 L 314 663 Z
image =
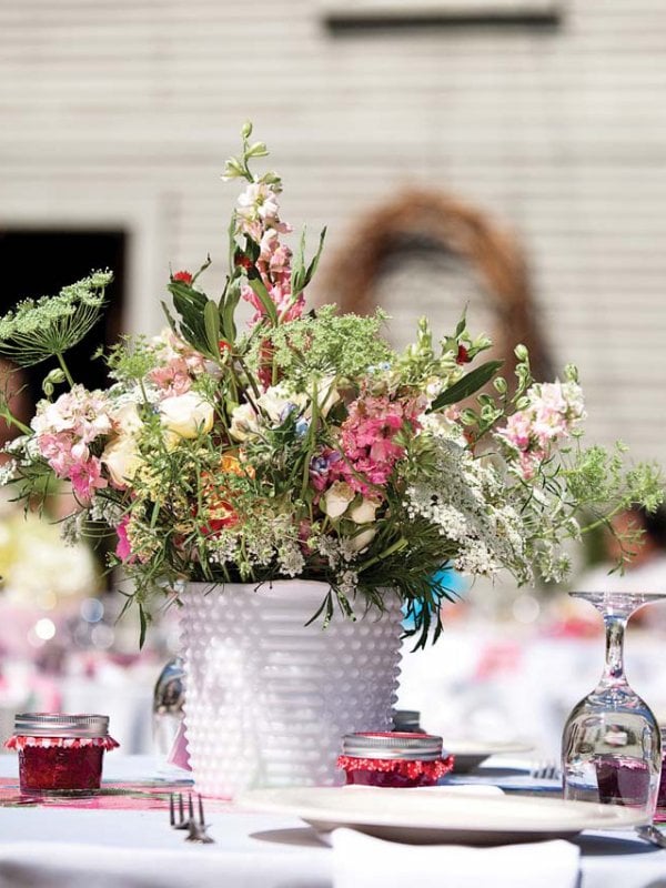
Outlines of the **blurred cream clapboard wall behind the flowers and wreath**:
M 169 262 L 223 273 L 245 118 L 283 209 L 330 249 L 407 183 L 454 190 L 526 244 L 591 436 L 666 457 L 666 6 L 571 0 L 563 27 L 332 38 L 311 0 L 0 3 L 0 226 L 122 225 L 129 322 Z M 350 258 L 353 261 L 353 256 Z M 0 296 L 1 299 L 1 296 Z M 473 319 L 472 319 L 473 321 Z

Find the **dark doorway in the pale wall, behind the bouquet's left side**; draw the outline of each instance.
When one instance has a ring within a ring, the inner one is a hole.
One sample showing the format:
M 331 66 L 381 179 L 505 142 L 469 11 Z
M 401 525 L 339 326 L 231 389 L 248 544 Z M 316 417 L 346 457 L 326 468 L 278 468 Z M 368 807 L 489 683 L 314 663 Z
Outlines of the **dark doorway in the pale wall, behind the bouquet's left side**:
M 0 313 L 24 299 L 56 295 L 91 271 L 111 269 L 108 307 L 97 326 L 71 352 L 67 363 L 73 379 L 88 389 L 108 385 L 105 366 L 92 355 L 100 345 L 118 341 L 122 332 L 125 295 L 127 235 L 121 231 L 0 230 Z M 54 362 L 56 365 L 56 362 Z M 48 362 L 28 369 L 33 403 L 42 397 L 41 381 Z

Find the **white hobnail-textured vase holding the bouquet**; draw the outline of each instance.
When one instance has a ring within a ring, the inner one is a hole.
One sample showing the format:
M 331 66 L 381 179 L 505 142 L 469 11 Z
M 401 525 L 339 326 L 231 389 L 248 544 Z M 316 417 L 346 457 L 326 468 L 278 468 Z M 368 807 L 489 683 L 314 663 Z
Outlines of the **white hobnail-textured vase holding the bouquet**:
M 181 608 L 185 731 L 198 793 L 332 786 L 344 734 L 391 730 L 401 607 L 307 620 L 324 583 L 192 583 Z

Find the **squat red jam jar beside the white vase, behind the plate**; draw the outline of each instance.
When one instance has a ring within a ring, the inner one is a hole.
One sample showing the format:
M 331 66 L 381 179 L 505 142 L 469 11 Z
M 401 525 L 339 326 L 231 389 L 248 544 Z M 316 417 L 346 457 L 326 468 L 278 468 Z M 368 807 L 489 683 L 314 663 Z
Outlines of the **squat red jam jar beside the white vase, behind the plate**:
M 435 786 L 453 768 L 442 738 L 405 731 L 346 734 L 337 767 L 347 784 L 408 788 Z

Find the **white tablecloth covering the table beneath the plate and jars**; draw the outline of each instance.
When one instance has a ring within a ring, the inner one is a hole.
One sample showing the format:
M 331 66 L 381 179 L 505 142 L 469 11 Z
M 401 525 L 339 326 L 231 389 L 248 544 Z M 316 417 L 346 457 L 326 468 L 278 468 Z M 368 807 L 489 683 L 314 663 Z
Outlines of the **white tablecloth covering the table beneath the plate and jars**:
M 16 757 L 2 757 L 0 776 L 16 773 Z M 107 779 L 154 774 L 148 757 L 107 757 Z M 188 846 L 165 811 L 2 808 L 0 888 L 336 888 L 335 851 L 301 820 L 240 811 L 206 819 L 215 844 Z M 666 886 L 666 850 L 633 834 L 583 834 L 577 844 L 581 888 Z

